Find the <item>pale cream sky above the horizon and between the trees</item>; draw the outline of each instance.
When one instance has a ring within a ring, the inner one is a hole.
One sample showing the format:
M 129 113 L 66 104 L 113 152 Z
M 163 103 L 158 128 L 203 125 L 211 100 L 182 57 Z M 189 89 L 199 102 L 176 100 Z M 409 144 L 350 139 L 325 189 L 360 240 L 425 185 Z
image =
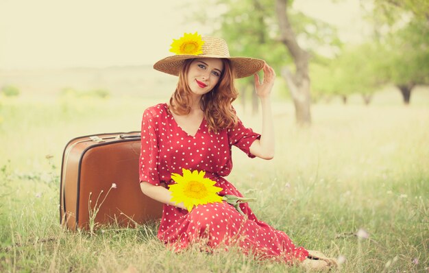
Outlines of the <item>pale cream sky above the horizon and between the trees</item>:
M 153 64 L 169 55 L 173 38 L 210 32 L 185 23 L 184 3 L 195 2 L 0 0 L 0 69 Z M 358 0 L 295 0 L 295 7 L 339 26 L 358 16 Z

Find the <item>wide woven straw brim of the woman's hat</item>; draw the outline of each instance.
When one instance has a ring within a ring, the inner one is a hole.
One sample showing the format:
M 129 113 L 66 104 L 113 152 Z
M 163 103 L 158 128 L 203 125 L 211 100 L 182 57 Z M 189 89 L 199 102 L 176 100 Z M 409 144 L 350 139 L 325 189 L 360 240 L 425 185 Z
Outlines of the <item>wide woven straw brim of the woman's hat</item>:
M 265 61 L 256 59 L 256 58 L 246 58 L 246 57 L 220 57 L 216 55 L 209 54 L 201 54 L 201 55 L 174 55 L 169 56 L 167 58 L 163 58 L 162 60 L 158 60 L 154 64 L 154 69 L 170 74 L 178 76 L 180 71 L 182 70 L 183 64 L 185 60 L 195 59 L 195 58 L 223 58 L 230 60 L 232 67 L 234 67 L 235 78 L 245 78 L 249 75 L 253 75 L 254 73 L 260 71 L 265 66 Z

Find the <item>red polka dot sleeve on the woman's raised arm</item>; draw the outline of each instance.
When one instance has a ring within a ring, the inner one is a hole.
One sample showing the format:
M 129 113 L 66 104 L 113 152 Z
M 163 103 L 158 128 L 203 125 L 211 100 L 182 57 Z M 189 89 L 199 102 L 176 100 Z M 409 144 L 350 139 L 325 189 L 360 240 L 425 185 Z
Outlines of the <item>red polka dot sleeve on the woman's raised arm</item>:
M 250 153 L 249 148 L 256 139 L 260 139 L 260 134 L 254 132 L 251 128 L 246 128 L 240 119 L 238 119 L 238 122 L 233 129 L 228 129 L 228 139 L 230 141 L 230 145 L 238 147 L 250 158 L 255 157 Z

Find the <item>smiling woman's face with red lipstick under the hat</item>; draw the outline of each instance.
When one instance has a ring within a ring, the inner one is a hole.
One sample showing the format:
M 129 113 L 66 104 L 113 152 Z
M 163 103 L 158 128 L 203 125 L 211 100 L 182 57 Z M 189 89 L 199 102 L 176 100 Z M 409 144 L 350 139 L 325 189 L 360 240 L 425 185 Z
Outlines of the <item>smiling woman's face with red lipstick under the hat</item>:
M 221 79 L 223 62 L 215 58 L 197 58 L 191 62 L 186 80 L 195 95 L 204 95 Z

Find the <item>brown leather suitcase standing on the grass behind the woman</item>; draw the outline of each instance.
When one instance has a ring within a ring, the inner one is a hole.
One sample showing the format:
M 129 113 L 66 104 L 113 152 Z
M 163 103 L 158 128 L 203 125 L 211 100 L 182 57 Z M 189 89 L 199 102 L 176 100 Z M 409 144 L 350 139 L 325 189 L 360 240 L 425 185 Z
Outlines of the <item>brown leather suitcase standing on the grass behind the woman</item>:
M 138 182 L 140 132 L 77 137 L 62 155 L 60 222 L 70 228 L 131 226 L 162 215 Z M 92 216 L 91 216 L 92 215 Z

